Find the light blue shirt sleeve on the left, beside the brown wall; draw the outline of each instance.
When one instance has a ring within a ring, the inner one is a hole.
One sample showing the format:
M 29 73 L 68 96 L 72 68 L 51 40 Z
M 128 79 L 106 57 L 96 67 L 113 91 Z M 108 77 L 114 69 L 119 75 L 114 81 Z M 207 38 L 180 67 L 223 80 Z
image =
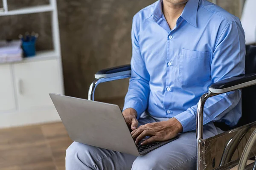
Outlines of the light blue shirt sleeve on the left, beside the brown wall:
M 141 114 L 148 107 L 150 76 L 140 53 L 139 24 L 136 23 L 135 17 L 133 19 L 131 31 L 131 42 L 131 79 L 129 82 L 128 92 L 125 96 L 123 111 L 127 108 L 134 108 L 137 111 L 137 119 L 139 119 Z

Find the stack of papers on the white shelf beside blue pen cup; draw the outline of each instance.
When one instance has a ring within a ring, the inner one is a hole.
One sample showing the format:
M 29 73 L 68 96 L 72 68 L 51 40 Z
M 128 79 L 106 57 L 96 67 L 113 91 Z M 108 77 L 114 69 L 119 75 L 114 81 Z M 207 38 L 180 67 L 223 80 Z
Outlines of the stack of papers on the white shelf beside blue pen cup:
M 0 40 L 0 63 L 22 60 L 21 40 Z

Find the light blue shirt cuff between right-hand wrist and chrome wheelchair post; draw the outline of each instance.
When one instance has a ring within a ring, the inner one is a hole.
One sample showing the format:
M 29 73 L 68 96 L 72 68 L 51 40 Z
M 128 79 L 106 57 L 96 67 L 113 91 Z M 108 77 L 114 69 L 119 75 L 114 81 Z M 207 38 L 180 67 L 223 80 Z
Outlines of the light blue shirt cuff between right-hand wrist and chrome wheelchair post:
M 174 116 L 183 127 L 183 133 L 191 130 L 195 130 L 196 128 L 196 119 L 195 115 L 190 113 L 189 111 L 184 111 L 176 116 Z

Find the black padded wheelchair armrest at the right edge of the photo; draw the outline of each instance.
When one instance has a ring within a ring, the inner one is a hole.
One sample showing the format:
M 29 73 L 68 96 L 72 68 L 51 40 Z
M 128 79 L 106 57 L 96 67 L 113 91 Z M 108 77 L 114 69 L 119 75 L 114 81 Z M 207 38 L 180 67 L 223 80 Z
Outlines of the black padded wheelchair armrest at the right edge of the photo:
M 251 85 L 256 85 L 256 74 L 246 74 L 215 82 L 209 87 L 209 91 L 216 94 L 222 94 Z

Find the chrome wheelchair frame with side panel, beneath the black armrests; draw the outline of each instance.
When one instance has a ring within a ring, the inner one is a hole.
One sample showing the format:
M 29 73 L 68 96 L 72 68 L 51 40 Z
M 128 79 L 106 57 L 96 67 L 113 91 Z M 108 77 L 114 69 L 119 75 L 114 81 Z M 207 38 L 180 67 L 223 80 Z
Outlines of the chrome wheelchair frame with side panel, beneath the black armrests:
M 127 72 L 126 72 L 127 73 Z M 131 74 L 119 75 L 116 77 L 99 77 L 91 83 L 88 91 L 88 99 L 94 100 L 94 93 L 97 85 L 119 79 L 130 78 Z M 226 93 L 226 92 L 225 92 Z M 209 97 L 221 93 L 209 91 L 203 94 L 198 102 L 197 108 L 197 170 L 228 170 L 239 163 L 247 140 L 256 129 L 256 122 L 226 131 L 224 133 L 203 139 L 203 113 L 204 104 Z M 250 157 L 256 156 L 256 146 L 251 150 Z M 256 164 L 250 164 L 248 168 L 256 170 Z

